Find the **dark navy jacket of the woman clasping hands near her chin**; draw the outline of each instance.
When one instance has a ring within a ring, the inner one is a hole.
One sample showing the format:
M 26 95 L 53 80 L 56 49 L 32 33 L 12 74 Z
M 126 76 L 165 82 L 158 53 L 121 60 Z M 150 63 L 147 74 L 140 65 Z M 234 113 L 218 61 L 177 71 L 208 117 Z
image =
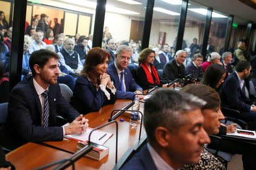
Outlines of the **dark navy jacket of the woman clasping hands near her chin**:
M 112 105 L 115 103 L 116 93 L 111 93 L 109 88 L 106 88 L 106 90 L 110 94 L 110 100 L 108 100 L 101 88 L 97 90 L 87 77 L 80 76 L 76 80 L 71 104 L 81 114 L 98 111 L 104 105 Z

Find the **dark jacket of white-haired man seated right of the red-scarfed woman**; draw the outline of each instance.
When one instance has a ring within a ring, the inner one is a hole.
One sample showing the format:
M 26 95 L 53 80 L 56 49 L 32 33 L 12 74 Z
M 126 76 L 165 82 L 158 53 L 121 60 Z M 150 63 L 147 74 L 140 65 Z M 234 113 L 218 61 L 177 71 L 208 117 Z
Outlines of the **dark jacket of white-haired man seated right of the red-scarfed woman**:
M 168 80 L 175 80 L 178 78 L 179 74 L 185 74 L 185 67 L 183 64 L 180 64 L 180 67 L 178 67 L 176 60 L 174 59 L 164 65 L 163 74 L 168 78 Z

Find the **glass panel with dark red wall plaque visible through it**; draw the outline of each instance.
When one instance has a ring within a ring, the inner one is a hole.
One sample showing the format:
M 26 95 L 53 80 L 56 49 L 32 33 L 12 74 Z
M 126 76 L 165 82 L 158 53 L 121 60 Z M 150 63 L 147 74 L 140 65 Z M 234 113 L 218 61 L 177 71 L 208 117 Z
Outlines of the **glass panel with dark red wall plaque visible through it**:
M 156 0 L 154 5 L 149 48 L 159 51 L 159 56 L 158 52 L 155 54 L 160 62 L 159 67 L 156 66 L 158 69 L 163 69 L 164 64 L 174 59 L 181 1 L 174 2 L 177 1 Z M 184 40 L 183 47 L 187 47 L 187 44 Z

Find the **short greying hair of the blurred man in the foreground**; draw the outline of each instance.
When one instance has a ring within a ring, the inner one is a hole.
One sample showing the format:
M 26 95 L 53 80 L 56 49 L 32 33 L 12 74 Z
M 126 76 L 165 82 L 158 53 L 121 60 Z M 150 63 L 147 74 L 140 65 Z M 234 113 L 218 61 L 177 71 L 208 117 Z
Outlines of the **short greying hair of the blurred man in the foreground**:
M 192 94 L 170 89 L 158 90 L 146 100 L 144 105 L 143 120 L 148 141 L 151 144 L 156 141 L 155 130 L 160 126 L 176 133 L 179 127 L 188 121 L 183 115 L 200 109 L 205 104 L 203 99 Z

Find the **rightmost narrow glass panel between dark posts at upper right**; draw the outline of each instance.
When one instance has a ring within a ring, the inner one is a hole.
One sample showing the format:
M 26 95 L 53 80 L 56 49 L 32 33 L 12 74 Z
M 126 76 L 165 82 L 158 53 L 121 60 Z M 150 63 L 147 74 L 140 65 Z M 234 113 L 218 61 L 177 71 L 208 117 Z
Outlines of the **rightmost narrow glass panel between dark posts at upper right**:
M 211 52 L 218 52 L 220 53 L 220 55 L 222 55 L 222 53 L 224 52 L 227 23 L 227 15 L 213 10 L 207 45 L 207 55 Z

